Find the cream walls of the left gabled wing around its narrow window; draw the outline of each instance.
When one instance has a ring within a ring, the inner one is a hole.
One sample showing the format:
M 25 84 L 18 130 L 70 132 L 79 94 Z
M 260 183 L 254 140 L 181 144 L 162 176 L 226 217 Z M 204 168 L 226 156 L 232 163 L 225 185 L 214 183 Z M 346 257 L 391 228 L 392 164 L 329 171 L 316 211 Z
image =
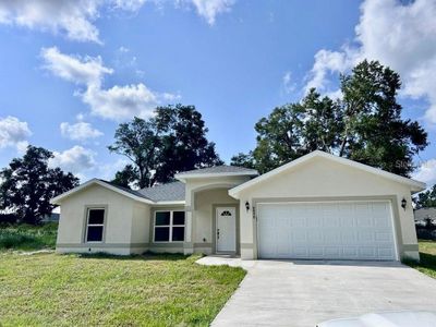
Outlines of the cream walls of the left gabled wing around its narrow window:
M 105 207 L 105 228 L 102 243 L 86 243 L 86 213 L 88 207 Z M 149 226 L 149 206 L 137 203 L 99 185 L 89 186 L 72 194 L 61 203 L 57 251 L 65 252 L 107 252 L 131 254 L 146 250 L 146 231 Z

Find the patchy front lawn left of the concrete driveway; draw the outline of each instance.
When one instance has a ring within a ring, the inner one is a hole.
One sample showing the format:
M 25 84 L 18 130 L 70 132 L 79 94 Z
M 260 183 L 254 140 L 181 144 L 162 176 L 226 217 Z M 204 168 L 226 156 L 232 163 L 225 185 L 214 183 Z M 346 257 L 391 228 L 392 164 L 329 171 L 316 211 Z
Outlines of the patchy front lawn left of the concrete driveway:
M 0 253 L 0 326 L 208 326 L 245 271 L 197 258 Z

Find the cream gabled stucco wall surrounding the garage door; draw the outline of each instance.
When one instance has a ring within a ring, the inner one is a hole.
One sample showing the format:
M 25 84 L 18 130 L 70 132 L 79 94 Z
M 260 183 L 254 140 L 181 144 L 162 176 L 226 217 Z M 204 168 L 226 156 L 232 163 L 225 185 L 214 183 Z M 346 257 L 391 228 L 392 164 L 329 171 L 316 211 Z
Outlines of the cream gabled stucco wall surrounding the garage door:
M 253 206 L 269 201 L 320 201 L 320 199 L 377 199 L 388 198 L 392 203 L 397 245 L 401 258 L 419 259 L 416 232 L 413 221 L 410 189 L 382 177 L 338 164 L 325 158 L 313 160 L 283 171 L 262 183 L 241 191 L 241 256 L 257 257 L 256 220 Z M 405 210 L 401 199 L 405 198 Z M 251 209 L 246 211 L 245 202 Z

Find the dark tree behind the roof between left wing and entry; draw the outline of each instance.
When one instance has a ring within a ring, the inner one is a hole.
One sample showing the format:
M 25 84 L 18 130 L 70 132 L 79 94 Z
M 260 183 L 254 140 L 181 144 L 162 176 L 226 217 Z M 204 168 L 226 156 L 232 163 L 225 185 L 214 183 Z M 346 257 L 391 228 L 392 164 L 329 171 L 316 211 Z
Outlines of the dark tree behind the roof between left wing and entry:
M 136 174 L 140 187 L 149 187 L 180 171 L 221 165 L 207 131 L 194 106 L 158 107 L 149 120 L 136 117 L 120 124 L 108 148 L 128 157 L 133 162 L 129 173 Z

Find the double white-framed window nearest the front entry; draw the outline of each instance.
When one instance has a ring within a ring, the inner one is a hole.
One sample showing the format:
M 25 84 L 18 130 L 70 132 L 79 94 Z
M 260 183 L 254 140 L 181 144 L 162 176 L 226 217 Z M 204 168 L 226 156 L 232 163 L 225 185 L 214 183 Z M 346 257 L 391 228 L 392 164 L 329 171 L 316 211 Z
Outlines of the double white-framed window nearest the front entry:
M 156 211 L 155 242 L 183 242 L 184 221 L 184 211 Z

